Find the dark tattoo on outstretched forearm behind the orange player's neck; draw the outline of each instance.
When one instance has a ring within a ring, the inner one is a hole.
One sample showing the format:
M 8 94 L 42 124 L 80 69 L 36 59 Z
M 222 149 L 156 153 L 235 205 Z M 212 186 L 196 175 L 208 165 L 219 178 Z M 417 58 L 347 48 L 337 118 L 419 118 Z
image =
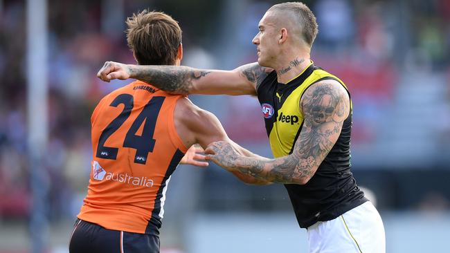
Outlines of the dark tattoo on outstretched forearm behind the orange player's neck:
M 210 71 L 202 71 L 186 66 L 132 66 L 130 76 L 163 91 L 187 95 L 192 82 L 205 77 Z

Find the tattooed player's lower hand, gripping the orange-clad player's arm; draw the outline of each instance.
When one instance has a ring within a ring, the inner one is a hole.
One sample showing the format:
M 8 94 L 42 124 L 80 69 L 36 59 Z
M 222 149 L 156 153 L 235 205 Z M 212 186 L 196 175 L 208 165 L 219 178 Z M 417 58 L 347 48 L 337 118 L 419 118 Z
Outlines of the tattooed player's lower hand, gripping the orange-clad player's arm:
M 233 148 L 231 142 L 219 141 L 213 142 L 205 149 L 206 160 L 212 160 L 216 165 L 227 169 L 228 171 L 235 171 L 239 153 Z

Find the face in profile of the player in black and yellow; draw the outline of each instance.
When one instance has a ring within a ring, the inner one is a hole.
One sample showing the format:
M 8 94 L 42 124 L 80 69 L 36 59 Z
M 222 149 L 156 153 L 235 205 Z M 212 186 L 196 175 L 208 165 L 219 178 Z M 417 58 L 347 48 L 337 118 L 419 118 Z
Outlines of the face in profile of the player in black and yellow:
M 270 12 L 266 12 L 258 25 L 258 34 L 252 43 L 256 45 L 258 64 L 265 67 L 273 67 L 271 64 L 276 58 L 278 49 L 277 30 Z

